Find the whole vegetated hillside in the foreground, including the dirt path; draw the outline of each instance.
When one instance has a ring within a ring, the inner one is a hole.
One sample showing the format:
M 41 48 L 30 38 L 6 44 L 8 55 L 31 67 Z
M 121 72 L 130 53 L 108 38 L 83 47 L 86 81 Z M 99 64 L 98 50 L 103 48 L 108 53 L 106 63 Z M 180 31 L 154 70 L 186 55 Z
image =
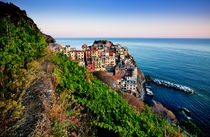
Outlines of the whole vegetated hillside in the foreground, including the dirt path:
M 183 136 L 143 102 L 50 52 L 26 13 L 6 5 L 0 8 L 0 136 Z

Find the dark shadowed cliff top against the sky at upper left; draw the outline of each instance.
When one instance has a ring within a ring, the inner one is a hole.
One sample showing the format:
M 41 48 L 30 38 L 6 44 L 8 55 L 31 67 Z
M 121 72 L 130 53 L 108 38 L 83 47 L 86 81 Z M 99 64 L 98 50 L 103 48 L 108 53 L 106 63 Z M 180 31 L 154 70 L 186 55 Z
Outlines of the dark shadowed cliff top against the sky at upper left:
M 32 28 L 39 30 L 39 28 L 34 23 L 34 21 L 27 16 L 25 10 L 21 10 L 19 7 L 15 6 L 12 3 L 4 3 L 0 1 L 0 19 L 4 17 L 8 17 L 8 16 L 10 17 L 11 22 L 16 25 L 20 20 L 24 20 L 24 21 L 30 22 L 30 25 Z M 42 34 L 46 38 L 47 43 L 55 42 L 55 39 L 51 37 L 50 35 L 46 35 L 44 33 Z

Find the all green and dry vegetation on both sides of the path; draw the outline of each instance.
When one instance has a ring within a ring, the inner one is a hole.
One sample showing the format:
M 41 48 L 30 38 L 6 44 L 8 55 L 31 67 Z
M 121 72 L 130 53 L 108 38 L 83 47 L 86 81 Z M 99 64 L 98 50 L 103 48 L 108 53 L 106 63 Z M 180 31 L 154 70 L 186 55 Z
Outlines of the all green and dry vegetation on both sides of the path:
M 0 136 L 22 116 L 22 97 L 40 76 L 46 58 L 56 65 L 53 73 L 58 79 L 49 113 L 53 135 L 182 136 L 148 106 L 144 112 L 131 107 L 121 94 L 64 54 L 44 52 L 46 40 L 29 22 L 13 24 L 10 17 L 1 18 L 0 29 Z

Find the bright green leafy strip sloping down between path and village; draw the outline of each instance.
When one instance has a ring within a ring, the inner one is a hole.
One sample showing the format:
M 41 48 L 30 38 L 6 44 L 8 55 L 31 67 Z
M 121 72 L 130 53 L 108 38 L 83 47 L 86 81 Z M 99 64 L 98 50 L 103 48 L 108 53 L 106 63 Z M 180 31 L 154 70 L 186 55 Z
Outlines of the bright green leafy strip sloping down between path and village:
M 97 117 L 92 124 L 119 136 L 164 136 L 175 133 L 175 128 L 157 117 L 146 107 L 145 112 L 135 112 L 115 91 L 98 79 L 86 79 L 90 73 L 65 55 L 58 53 L 52 59 L 57 65 L 54 74 L 59 79 L 60 89 L 72 92 L 82 106 L 89 108 Z M 57 90 L 59 93 L 62 90 Z

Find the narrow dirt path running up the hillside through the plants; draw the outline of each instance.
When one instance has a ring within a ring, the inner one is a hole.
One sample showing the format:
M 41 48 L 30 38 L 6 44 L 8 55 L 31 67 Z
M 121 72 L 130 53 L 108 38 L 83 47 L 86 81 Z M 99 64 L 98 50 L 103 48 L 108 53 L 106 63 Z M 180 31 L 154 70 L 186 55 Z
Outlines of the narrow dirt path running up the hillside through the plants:
M 12 127 L 8 136 L 49 136 L 51 123 L 48 110 L 51 107 L 54 78 L 54 65 L 44 60 L 43 71 L 23 96 L 25 111 L 23 117 Z

